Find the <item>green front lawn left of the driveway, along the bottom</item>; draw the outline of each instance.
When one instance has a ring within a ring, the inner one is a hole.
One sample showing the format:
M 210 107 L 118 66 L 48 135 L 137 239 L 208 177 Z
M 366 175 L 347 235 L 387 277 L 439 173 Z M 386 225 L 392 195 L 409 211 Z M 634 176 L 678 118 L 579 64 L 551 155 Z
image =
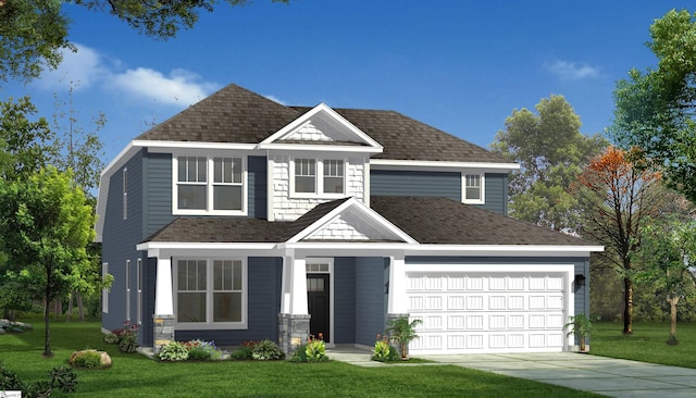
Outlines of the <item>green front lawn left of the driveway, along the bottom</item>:
M 79 349 L 105 350 L 113 366 L 76 370 L 77 393 L 53 397 L 596 397 L 564 387 L 459 366 L 359 368 L 340 362 L 224 361 L 162 363 L 122 353 L 102 341 L 100 326 L 51 323 L 53 358 L 41 356 L 44 328 L 0 336 L 0 360 L 23 381 L 47 380 Z

